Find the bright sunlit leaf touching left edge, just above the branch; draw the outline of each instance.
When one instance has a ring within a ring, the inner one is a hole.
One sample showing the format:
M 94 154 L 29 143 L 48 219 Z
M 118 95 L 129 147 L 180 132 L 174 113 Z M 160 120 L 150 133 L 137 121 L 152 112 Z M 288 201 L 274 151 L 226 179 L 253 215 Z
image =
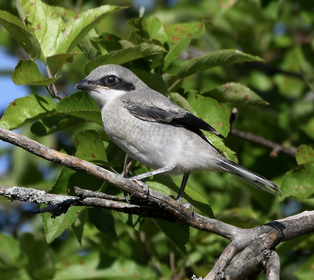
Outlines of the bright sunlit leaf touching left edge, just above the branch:
M 55 113 L 56 104 L 43 96 L 29 95 L 11 102 L 0 120 L 0 127 L 16 129 Z

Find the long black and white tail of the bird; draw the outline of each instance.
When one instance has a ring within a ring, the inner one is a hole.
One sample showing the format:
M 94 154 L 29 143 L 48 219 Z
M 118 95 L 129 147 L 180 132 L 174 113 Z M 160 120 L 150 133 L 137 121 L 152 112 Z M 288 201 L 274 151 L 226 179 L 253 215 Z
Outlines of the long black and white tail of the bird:
M 273 193 L 273 191 L 281 192 L 278 186 L 273 183 L 272 181 L 267 180 L 266 178 L 258 175 L 245 167 L 231 161 L 231 160 L 224 160 L 219 163 L 219 166 L 224 169 L 225 171 L 231 173 L 232 175 L 236 176 L 237 178 L 241 179 L 249 183 L 250 185 L 257 186 L 261 189 L 267 190 L 268 192 Z M 270 188 L 270 189 L 268 189 Z

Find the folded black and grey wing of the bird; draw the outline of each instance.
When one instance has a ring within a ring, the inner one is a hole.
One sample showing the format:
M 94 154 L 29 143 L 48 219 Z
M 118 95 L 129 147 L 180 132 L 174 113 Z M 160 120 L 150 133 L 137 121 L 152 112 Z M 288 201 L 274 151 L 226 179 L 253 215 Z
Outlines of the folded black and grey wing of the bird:
M 171 102 L 172 103 L 172 102 Z M 172 104 L 171 104 L 172 105 Z M 177 106 L 173 103 L 173 105 Z M 168 106 L 167 106 L 168 107 Z M 174 107 L 176 109 L 176 107 Z M 127 110 L 134 116 L 144 121 L 160 122 L 173 126 L 185 127 L 204 139 L 207 137 L 200 131 L 200 129 L 211 132 L 222 139 L 226 139 L 207 122 L 204 122 L 200 118 L 192 115 L 191 113 L 178 107 L 178 110 L 163 109 L 158 106 L 140 106 L 139 104 L 129 103 Z M 206 140 L 209 141 L 208 139 Z

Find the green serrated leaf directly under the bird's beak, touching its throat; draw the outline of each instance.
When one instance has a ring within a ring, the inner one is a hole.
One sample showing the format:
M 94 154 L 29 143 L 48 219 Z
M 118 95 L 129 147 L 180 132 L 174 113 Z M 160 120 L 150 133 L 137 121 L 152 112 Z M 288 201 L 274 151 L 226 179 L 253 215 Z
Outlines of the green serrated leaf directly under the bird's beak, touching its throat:
M 76 91 L 57 103 L 57 112 L 79 117 L 101 126 L 102 120 L 96 101 L 86 91 Z

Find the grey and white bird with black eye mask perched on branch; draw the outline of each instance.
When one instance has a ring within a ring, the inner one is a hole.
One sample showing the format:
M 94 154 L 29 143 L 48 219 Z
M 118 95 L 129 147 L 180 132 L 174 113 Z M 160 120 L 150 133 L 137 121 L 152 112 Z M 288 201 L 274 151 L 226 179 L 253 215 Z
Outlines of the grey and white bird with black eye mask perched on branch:
M 129 179 L 140 182 L 160 173 L 183 174 L 176 198 L 179 203 L 190 173 L 200 170 L 231 173 L 271 193 L 280 192 L 272 181 L 221 155 L 203 131 L 222 139 L 224 136 L 149 88 L 131 70 L 121 65 L 102 65 L 75 88 L 88 91 L 95 99 L 108 137 L 131 158 L 153 169 Z

